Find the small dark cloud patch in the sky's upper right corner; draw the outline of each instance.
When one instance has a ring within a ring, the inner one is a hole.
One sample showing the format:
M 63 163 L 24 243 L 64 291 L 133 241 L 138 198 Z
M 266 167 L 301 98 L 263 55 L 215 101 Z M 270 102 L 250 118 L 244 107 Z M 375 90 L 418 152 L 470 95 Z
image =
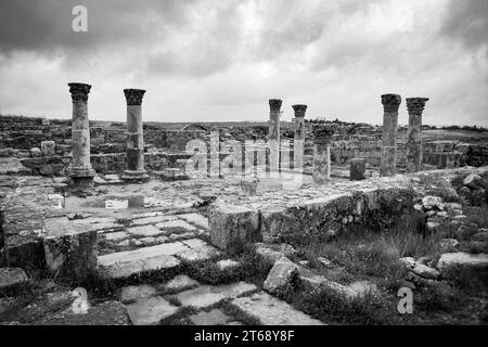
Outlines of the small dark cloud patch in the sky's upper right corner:
M 440 34 L 460 40 L 470 49 L 487 47 L 488 1 L 450 0 Z

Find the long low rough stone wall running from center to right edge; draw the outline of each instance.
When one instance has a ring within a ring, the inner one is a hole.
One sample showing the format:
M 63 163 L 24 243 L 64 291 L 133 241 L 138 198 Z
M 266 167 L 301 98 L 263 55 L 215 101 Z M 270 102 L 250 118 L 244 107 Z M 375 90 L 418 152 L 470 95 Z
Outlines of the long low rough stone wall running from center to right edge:
M 264 193 L 258 197 L 221 200 L 210 208 L 210 239 L 223 249 L 239 249 L 248 239 L 271 243 L 308 243 L 326 239 L 351 223 L 401 215 L 413 207 L 421 177 L 453 179 L 488 167 L 433 170 L 360 182 L 331 181 L 296 191 Z M 444 181 L 444 180 L 440 180 Z

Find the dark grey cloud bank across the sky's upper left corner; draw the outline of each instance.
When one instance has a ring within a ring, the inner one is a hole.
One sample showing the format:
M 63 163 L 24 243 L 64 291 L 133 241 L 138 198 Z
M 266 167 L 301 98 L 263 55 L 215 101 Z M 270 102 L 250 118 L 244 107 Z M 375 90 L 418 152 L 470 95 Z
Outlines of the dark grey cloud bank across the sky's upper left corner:
M 0 52 L 82 51 L 116 42 L 141 44 L 187 22 L 194 0 L 2 0 Z M 88 9 L 88 33 L 72 30 L 75 5 Z

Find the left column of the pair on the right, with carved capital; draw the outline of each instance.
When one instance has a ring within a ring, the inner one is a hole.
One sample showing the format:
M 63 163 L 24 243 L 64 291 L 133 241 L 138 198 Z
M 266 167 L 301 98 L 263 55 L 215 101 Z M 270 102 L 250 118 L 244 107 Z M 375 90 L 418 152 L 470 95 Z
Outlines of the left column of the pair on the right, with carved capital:
M 382 137 L 382 160 L 380 176 L 395 176 L 397 170 L 397 131 L 398 131 L 398 107 L 401 97 L 397 94 L 382 95 L 383 137 Z

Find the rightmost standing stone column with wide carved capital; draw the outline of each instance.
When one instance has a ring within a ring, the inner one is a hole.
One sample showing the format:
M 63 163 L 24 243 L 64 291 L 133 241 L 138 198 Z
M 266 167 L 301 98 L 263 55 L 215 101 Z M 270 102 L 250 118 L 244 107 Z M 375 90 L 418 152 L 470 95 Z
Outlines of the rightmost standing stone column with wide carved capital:
M 427 98 L 407 99 L 409 130 L 407 132 L 407 172 L 422 171 L 422 112 Z

